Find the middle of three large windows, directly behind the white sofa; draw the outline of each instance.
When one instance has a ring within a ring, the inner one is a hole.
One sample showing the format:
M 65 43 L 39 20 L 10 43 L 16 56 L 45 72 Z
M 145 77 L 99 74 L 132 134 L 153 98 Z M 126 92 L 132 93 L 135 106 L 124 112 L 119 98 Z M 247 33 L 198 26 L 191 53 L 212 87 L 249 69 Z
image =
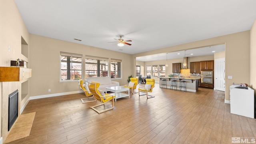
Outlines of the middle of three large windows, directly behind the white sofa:
M 85 56 L 85 78 L 108 76 L 108 58 Z

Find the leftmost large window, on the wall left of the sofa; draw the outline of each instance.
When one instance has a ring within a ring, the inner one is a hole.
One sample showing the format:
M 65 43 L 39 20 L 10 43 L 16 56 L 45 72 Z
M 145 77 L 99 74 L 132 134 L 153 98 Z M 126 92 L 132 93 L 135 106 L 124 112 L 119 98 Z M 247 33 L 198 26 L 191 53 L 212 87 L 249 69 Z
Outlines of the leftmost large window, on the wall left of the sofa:
M 60 80 L 82 78 L 82 54 L 60 52 Z

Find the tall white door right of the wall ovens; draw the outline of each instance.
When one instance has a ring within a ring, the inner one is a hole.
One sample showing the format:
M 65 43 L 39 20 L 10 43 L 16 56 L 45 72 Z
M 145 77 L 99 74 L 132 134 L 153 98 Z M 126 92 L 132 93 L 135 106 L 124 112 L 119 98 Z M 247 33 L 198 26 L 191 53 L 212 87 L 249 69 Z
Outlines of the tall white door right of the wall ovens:
M 225 58 L 215 60 L 215 89 L 225 92 Z

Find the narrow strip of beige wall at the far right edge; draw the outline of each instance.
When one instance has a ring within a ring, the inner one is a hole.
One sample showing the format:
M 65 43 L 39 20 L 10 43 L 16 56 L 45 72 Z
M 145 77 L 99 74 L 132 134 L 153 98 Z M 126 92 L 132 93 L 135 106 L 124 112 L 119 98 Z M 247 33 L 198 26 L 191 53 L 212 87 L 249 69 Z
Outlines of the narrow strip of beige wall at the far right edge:
M 250 86 L 256 90 L 256 20 L 250 30 Z

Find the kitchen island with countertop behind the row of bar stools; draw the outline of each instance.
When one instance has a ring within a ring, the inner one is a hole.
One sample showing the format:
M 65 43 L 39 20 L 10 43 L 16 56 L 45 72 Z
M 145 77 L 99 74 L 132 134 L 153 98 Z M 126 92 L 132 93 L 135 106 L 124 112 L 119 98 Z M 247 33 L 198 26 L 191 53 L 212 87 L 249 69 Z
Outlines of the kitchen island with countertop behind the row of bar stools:
M 162 80 L 166 80 L 167 88 L 170 88 L 170 77 L 160 77 L 159 78 L 159 87 L 161 87 Z M 196 92 L 198 90 L 198 82 L 201 78 L 200 77 L 185 77 L 184 81 L 186 82 L 186 90 L 188 92 Z M 174 77 L 177 83 L 177 89 L 180 86 L 180 78 L 178 76 Z M 183 90 L 183 89 L 182 89 Z

